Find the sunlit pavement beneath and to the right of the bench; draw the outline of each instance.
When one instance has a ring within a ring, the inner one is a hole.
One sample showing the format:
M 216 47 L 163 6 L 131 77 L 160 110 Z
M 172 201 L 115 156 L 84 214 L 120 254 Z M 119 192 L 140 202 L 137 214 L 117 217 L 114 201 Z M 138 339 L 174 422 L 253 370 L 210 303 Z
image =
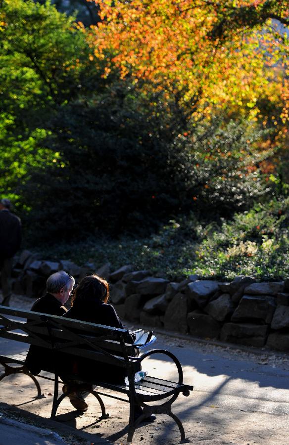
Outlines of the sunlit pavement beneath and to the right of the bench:
M 177 352 L 173 352 L 177 355 Z M 241 378 L 239 375 L 234 375 L 232 370 L 235 371 L 238 368 L 240 372 L 245 372 L 242 361 L 236 360 L 236 367 L 227 368 L 227 363 L 230 363 L 230 360 L 204 354 L 195 357 L 189 349 L 185 352 L 190 360 L 187 359 L 187 363 L 183 366 L 184 382 L 193 385 L 194 390 L 189 397 L 180 395 L 173 403 L 172 411 L 183 422 L 186 437 L 191 443 L 219 445 L 222 442 L 231 442 L 235 445 L 247 443 L 276 445 L 278 442 L 274 442 L 274 436 L 277 437 L 279 434 L 281 438 L 285 438 L 289 434 L 289 426 L 286 422 L 289 413 L 289 391 L 281 389 L 280 378 L 276 377 L 274 380 L 276 387 L 272 386 L 272 378 L 270 382 L 269 380 L 262 381 L 262 378 L 265 379 L 266 376 L 256 374 L 255 367 L 249 362 L 246 362 L 246 367 L 251 369 L 251 379 Z M 151 375 L 176 380 L 175 364 L 164 358 L 165 356 L 155 355 L 145 359 L 143 369 Z M 194 362 L 194 365 L 188 364 L 188 361 Z M 216 367 L 212 368 L 211 366 Z M 270 372 L 268 374 L 270 376 Z M 43 382 L 40 379 L 42 393 L 45 397 L 33 400 L 31 394 L 35 388 L 33 388 L 33 382 L 30 382 L 27 377 L 12 376 L 5 380 L 5 383 L 4 381 L 1 383 L 1 401 L 3 398 L 8 400 L 13 395 L 16 406 L 23 407 L 38 416 L 49 418 L 52 405 L 52 382 Z M 17 391 L 18 388 L 23 391 Z M 33 395 L 35 394 L 33 393 Z M 103 401 L 107 412 L 110 413 L 110 418 L 106 420 L 99 421 L 99 405 L 94 397 L 89 396 L 89 409 L 87 413 L 81 415 L 71 407 L 68 399 L 64 399 L 59 406 L 57 421 L 60 425 L 68 425 L 76 430 L 82 430 L 91 442 L 93 442 L 92 438 L 100 435 L 108 440 L 115 440 L 116 443 L 125 443 L 129 404 L 116 403 L 107 397 L 103 397 Z M 23 405 L 23 403 L 25 404 Z M 269 429 L 268 423 L 270 423 Z M 142 437 L 144 438 L 143 445 L 162 443 L 176 445 L 179 443 L 178 428 L 166 415 L 159 415 L 152 424 L 138 428 L 134 436 L 134 443 L 139 443 Z M 285 443 L 283 441 L 278 444 L 284 445 Z

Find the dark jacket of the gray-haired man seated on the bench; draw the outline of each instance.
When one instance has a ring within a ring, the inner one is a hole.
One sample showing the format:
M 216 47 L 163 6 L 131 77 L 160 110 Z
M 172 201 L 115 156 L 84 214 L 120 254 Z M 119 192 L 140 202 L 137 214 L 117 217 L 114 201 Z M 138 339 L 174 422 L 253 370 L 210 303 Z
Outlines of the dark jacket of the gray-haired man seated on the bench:
M 64 306 L 62 306 L 53 295 L 48 293 L 36 300 L 31 311 L 58 316 L 67 312 Z M 53 372 L 54 359 L 55 357 L 49 350 L 41 348 L 40 346 L 31 345 L 25 360 L 25 365 L 32 374 L 35 375 L 39 374 L 42 369 L 51 370 Z

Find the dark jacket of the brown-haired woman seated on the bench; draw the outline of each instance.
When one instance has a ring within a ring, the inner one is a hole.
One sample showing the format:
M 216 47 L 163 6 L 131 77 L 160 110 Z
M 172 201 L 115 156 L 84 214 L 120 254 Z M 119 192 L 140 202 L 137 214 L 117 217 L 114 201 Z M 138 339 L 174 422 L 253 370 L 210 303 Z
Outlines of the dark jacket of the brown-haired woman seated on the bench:
M 86 305 L 79 304 L 76 300 L 73 303 L 73 307 L 64 314 L 64 317 L 126 329 L 113 306 L 95 300 L 90 301 Z M 135 341 L 136 336 L 134 332 L 130 331 L 130 334 L 132 340 Z M 130 355 L 138 356 L 138 349 L 132 346 Z M 66 363 L 68 363 L 68 360 Z M 98 364 L 97 361 L 89 360 L 87 358 L 74 358 L 70 366 L 70 372 L 83 375 L 86 379 L 91 377 L 108 383 L 124 383 L 124 378 L 127 374 L 126 370 L 119 366 L 109 365 L 102 362 L 99 362 Z

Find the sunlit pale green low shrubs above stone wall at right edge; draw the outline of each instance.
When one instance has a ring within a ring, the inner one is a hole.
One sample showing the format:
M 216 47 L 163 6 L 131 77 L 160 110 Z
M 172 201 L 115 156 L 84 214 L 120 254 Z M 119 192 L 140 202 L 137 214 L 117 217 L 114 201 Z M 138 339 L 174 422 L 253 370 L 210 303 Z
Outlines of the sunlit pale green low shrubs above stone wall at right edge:
M 247 274 L 264 280 L 288 276 L 288 223 L 289 198 L 255 204 L 208 233 L 196 250 L 194 272 L 225 278 Z

